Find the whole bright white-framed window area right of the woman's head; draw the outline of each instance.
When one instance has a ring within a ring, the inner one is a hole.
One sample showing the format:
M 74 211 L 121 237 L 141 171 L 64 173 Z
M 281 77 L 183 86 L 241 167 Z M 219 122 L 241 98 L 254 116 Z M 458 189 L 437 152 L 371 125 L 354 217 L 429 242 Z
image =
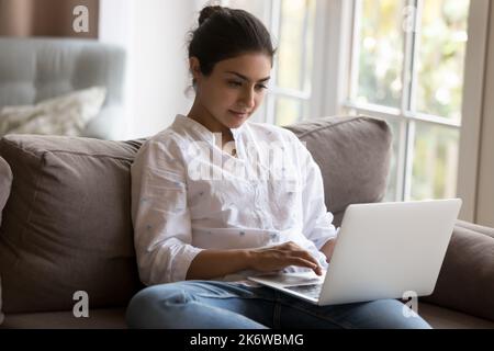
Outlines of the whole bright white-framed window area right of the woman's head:
M 386 201 L 461 196 L 473 220 L 490 0 L 229 0 L 278 61 L 261 122 L 367 114 L 394 134 Z M 256 118 L 256 117 L 255 117 Z

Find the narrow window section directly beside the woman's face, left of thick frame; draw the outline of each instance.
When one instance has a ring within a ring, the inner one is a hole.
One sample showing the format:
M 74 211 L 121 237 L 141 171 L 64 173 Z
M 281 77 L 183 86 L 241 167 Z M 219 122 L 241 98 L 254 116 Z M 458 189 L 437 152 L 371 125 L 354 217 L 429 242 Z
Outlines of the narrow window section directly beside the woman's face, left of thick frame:
M 249 11 L 263 21 L 278 48 L 263 110 L 257 121 L 289 125 L 308 117 L 316 0 L 229 0 L 223 5 Z

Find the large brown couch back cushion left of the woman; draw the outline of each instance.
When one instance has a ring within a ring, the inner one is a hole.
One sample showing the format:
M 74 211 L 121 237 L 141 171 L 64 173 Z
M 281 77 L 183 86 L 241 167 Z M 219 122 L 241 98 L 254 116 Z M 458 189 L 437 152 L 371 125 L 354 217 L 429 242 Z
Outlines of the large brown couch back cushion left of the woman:
M 0 228 L 4 313 L 125 305 L 141 283 L 131 222 L 130 166 L 139 141 L 10 135 L 13 172 Z

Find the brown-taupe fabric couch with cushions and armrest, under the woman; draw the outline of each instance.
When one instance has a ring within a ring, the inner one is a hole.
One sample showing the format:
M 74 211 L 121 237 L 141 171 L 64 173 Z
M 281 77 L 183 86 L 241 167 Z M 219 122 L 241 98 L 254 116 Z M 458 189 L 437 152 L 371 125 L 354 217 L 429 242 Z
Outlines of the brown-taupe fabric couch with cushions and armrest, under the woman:
M 328 117 L 289 128 L 318 162 L 337 225 L 348 204 L 383 199 L 392 140 L 384 122 Z M 0 139 L 3 328 L 125 328 L 125 306 L 143 287 L 130 215 L 130 166 L 142 143 Z M 456 226 L 435 294 L 418 306 L 434 327 L 494 328 L 493 233 Z M 72 313 L 78 291 L 88 293 L 88 318 Z

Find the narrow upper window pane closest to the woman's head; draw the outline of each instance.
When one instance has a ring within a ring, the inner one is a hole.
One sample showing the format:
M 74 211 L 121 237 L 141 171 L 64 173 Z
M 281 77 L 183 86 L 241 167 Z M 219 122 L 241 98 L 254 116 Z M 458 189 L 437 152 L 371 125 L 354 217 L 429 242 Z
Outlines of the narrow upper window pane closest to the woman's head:
M 311 89 L 315 0 L 282 0 L 278 77 L 280 88 Z

